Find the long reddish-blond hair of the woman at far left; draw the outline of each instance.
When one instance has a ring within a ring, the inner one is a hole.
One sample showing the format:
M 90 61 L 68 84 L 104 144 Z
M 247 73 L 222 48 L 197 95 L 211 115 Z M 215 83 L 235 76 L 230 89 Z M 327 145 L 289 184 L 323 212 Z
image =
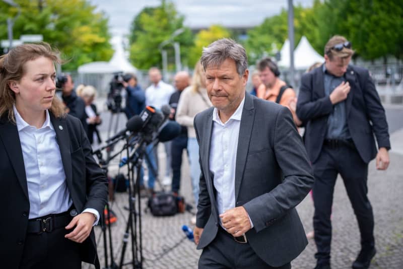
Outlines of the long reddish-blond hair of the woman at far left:
M 8 119 L 15 122 L 13 105 L 16 102 L 16 96 L 9 83 L 20 81 L 26 72 L 25 63 L 39 57 L 46 57 L 53 63 L 62 63 L 58 51 L 53 50 L 45 42 L 22 44 L 0 56 L 0 117 L 7 114 Z M 63 103 L 58 98 L 53 98 L 50 111 L 55 117 L 65 116 Z

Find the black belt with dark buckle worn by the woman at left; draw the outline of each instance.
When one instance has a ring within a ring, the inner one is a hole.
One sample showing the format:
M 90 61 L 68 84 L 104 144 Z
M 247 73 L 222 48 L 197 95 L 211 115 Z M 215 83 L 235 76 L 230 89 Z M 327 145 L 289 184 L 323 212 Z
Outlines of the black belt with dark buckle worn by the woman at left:
M 60 214 L 50 214 L 40 218 L 31 219 L 28 221 L 27 233 L 50 233 L 55 229 L 65 227 L 73 219 L 73 217 L 70 216 L 69 212 L 70 211 Z

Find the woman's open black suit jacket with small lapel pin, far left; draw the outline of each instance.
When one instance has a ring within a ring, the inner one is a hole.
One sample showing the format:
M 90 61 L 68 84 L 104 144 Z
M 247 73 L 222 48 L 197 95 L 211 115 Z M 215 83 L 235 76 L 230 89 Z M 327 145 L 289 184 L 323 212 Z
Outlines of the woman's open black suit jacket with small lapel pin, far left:
M 107 198 L 107 179 L 91 155 L 91 146 L 79 119 L 68 115 L 55 118 L 49 112 L 56 132 L 67 186 L 79 213 L 96 209 L 100 216 Z M 18 268 L 24 249 L 29 217 L 28 187 L 17 125 L 0 119 L 0 221 L 1 267 Z M 99 268 L 94 231 L 81 244 L 83 261 Z

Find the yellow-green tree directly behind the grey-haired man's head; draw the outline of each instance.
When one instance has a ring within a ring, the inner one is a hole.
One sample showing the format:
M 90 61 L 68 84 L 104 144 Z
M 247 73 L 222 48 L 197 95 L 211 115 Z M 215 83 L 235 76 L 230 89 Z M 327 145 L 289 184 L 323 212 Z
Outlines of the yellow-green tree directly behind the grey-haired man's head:
M 203 47 L 221 39 L 231 37 L 231 33 L 220 25 L 212 25 L 208 30 L 201 30 L 194 38 L 194 46 L 190 49 L 189 63 L 193 67 L 201 56 Z

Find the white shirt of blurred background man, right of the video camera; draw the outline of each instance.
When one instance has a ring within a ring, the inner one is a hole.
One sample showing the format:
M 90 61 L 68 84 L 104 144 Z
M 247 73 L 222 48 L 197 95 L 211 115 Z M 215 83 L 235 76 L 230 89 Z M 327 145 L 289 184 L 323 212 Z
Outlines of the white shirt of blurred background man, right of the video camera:
M 157 85 L 152 84 L 146 89 L 146 105 L 160 109 L 163 105 L 169 104 L 169 98 L 175 89 L 163 81 Z

